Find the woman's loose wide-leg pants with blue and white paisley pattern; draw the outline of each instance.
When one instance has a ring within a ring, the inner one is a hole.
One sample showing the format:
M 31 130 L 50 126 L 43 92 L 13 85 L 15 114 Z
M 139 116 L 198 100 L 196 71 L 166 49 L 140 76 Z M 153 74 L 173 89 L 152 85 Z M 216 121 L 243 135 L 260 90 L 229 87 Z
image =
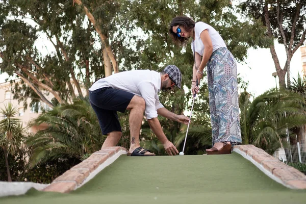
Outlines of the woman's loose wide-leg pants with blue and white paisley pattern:
M 207 63 L 212 143 L 241 143 L 237 65 L 225 47 L 213 52 Z

